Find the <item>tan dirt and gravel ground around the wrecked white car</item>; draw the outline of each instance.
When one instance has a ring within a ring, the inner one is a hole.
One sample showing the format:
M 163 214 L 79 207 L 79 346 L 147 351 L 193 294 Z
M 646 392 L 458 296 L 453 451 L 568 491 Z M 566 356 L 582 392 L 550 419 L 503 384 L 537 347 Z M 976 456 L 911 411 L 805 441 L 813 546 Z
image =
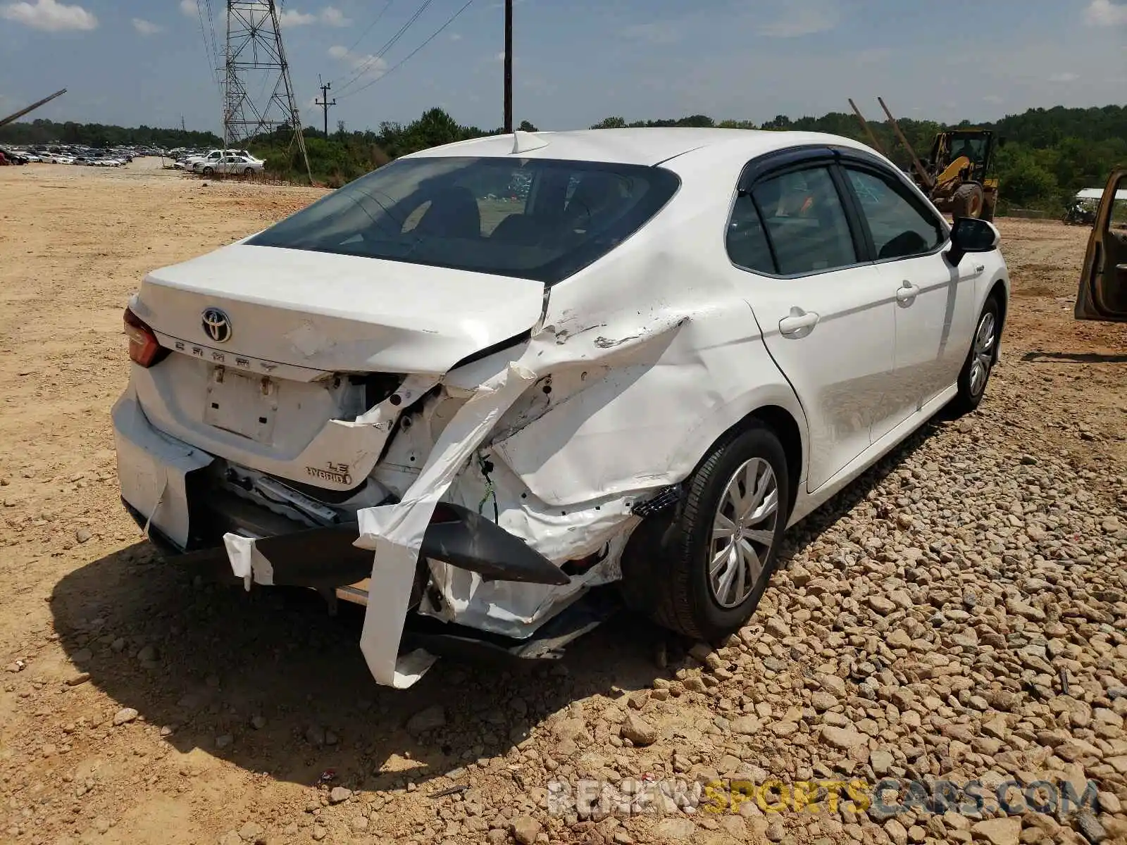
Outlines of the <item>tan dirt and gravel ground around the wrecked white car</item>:
M 0 840 L 1127 842 L 1127 332 L 1071 318 L 1083 230 L 1001 221 L 986 401 L 797 526 L 724 648 L 622 616 L 561 664 L 443 660 L 393 692 L 354 608 L 195 582 L 117 501 L 140 275 L 317 195 L 0 170 Z M 882 777 L 986 800 L 867 807 Z M 1035 812 L 1037 781 L 1098 797 Z

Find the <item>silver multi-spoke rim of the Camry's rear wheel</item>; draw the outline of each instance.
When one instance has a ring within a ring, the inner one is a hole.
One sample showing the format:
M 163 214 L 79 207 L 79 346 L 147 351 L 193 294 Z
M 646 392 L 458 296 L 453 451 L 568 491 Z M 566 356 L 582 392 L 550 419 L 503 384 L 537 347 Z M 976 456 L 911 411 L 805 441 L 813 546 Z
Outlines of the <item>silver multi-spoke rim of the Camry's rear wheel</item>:
M 708 584 L 716 603 L 737 607 L 752 594 L 779 518 L 779 481 L 762 457 L 745 461 L 731 474 L 712 519 Z

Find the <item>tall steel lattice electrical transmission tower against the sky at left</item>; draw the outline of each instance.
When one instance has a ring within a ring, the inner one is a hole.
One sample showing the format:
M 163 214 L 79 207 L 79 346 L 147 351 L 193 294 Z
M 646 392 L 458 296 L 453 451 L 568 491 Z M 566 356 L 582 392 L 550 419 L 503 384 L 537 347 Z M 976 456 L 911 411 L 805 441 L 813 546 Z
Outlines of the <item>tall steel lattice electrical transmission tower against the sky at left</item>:
M 227 0 L 224 64 L 223 148 L 290 127 L 312 181 L 274 0 Z

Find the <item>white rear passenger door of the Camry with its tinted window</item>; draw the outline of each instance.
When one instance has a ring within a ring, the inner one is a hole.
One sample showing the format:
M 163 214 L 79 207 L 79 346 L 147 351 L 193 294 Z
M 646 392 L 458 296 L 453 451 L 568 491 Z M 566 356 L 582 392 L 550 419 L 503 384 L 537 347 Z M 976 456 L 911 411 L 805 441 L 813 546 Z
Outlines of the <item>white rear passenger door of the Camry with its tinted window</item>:
M 813 491 L 864 452 L 882 425 L 895 300 L 845 212 L 834 155 L 780 159 L 745 170 L 727 248 L 767 352 L 806 412 Z

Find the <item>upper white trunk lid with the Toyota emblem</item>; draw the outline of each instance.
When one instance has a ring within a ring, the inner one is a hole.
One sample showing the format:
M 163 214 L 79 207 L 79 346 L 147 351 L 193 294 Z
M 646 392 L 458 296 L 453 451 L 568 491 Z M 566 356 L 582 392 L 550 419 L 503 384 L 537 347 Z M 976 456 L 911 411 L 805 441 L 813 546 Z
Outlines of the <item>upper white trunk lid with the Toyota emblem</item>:
M 543 295 L 530 279 L 237 243 L 153 270 L 132 308 L 156 331 L 227 355 L 440 374 L 530 330 Z

